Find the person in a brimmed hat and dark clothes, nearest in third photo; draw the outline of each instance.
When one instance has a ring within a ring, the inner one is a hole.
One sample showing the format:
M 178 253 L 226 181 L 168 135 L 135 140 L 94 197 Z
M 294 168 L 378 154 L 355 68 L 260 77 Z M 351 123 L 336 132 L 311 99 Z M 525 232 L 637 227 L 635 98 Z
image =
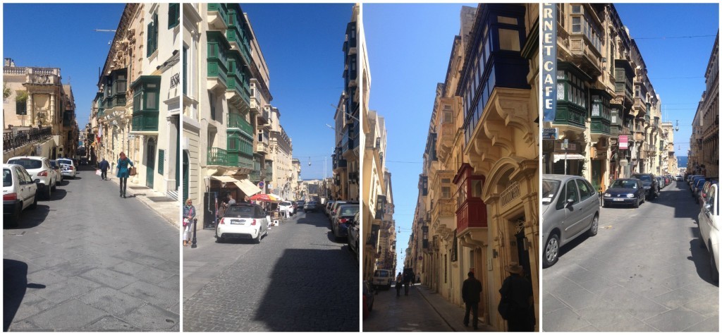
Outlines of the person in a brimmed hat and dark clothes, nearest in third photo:
M 524 277 L 524 269 L 520 265 L 511 263 L 505 266 L 505 269 L 510 275 L 504 279 L 499 290 L 502 298 L 499 309 L 500 312 L 503 309 L 506 311 L 502 313 L 502 317 L 508 322 L 508 330 L 534 331 L 536 320 L 531 303 L 531 282 Z M 507 306 L 503 307 L 503 304 Z

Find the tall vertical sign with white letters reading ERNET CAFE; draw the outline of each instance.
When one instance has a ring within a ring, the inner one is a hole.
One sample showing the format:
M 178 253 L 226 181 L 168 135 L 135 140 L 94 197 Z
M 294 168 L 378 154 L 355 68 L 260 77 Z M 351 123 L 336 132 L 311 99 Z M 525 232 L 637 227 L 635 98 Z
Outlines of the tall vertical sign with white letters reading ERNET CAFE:
M 544 121 L 557 111 L 557 4 L 541 4 L 541 95 Z

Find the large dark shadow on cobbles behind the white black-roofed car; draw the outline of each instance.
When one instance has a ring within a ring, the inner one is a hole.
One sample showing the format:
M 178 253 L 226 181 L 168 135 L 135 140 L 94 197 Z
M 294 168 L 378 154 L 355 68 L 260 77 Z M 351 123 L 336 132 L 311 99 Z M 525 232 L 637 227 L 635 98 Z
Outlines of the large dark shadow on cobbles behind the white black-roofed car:
M 287 249 L 253 319 L 270 331 L 360 331 L 359 269 L 348 256 L 341 249 Z

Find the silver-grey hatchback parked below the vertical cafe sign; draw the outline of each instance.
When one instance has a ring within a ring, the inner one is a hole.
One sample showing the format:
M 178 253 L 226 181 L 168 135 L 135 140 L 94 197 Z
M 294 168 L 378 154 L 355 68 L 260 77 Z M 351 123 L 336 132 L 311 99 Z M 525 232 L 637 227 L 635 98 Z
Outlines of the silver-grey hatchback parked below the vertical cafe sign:
M 544 267 L 557 263 L 559 249 L 578 236 L 599 230 L 599 193 L 578 175 L 544 175 L 541 181 Z

